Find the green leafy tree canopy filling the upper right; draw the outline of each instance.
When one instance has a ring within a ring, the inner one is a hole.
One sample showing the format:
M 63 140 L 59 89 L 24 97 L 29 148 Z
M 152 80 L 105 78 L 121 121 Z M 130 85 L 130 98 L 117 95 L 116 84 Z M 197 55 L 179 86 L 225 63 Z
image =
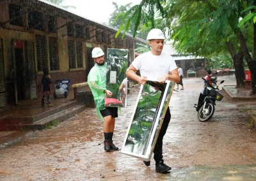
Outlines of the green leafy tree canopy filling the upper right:
M 241 34 L 252 56 L 252 22 L 256 21 L 256 6 L 253 6 L 253 2 L 142 0 L 125 13 L 122 23 L 125 24 L 129 19 L 134 23 L 134 29 L 140 23 L 144 29 L 162 29 L 168 34 L 168 39 L 173 41 L 173 48 L 179 54 L 206 57 L 212 60 L 212 67 L 231 68 L 233 62 L 231 57 L 227 58 L 231 54 L 227 42 L 234 47 L 232 53 L 237 54 L 241 46 Z M 141 10 L 147 10 L 147 13 Z M 220 55 L 225 55 L 225 59 L 218 58 Z

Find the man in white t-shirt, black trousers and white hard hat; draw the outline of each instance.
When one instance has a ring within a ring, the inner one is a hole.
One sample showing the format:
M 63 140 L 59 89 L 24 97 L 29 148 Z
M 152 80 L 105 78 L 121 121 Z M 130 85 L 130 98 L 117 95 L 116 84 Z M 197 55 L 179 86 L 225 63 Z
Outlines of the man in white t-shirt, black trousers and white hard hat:
M 143 85 L 147 80 L 162 83 L 166 80 L 180 82 L 177 66 L 172 56 L 162 52 L 165 40 L 163 32 L 160 29 L 152 29 L 148 33 L 147 40 L 149 40 L 151 51 L 136 57 L 127 69 L 126 75 Z M 141 76 L 136 75 L 137 70 L 140 70 Z M 168 170 L 171 170 L 171 167 L 164 164 L 163 161 L 163 137 L 170 119 L 171 114 L 168 108 L 154 148 L 157 173 L 166 173 Z M 150 161 L 144 161 L 144 163 L 150 166 Z

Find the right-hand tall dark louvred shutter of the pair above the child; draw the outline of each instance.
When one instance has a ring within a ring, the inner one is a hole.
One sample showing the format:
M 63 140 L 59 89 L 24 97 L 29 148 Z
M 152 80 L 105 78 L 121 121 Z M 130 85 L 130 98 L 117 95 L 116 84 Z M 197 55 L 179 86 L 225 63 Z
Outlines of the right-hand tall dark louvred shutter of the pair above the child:
M 49 39 L 50 69 L 56 70 L 59 68 L 57 38 L 49 37 L 48 39 Z

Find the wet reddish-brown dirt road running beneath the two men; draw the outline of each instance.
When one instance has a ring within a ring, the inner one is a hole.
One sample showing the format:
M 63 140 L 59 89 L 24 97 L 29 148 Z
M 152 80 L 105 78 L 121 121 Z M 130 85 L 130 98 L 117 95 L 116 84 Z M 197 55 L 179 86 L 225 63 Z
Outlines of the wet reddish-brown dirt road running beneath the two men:
M 223 76 L 224 85 L 234 77 Z M 174 92 L 172 119 L 164 137 L 164 161 L 172 168 L 195 165 L 256 163 L 255 129 L 248 127 L 247 108 L 253 102 L 217 102 L 214 116 L 199 122 L 193 105 L 203 82 L 184 79 L 184 91 Z M 122 147 L 138 89 L 129 94 L 128 106 L 116 120 L 114 143 Z M 246 107 L 244 107 L 246 106 Z M 29 133 L 10 147 L 0 149 L 0 180 L 167 180 L 155 172 L 154 160 L 142 161 L 120 150 L 104 152 L 102 122 L 87 108 L 59 126 Z M 172 172 L 172 170 L 171 170 Z

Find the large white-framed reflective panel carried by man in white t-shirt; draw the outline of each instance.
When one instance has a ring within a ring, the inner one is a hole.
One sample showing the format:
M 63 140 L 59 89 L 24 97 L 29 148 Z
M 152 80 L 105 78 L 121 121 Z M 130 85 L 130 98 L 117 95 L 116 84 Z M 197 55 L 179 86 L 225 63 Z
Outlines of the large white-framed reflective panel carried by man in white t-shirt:
M 138 105 L 134 110 L 122 152 L 132 156 L 150 158 L 156 139 L 158 127 L 167 108 L 173 91 L 173 82 L 147 82 L 141 85 Z M 156 91 L 153 87 L 161 87 Z

